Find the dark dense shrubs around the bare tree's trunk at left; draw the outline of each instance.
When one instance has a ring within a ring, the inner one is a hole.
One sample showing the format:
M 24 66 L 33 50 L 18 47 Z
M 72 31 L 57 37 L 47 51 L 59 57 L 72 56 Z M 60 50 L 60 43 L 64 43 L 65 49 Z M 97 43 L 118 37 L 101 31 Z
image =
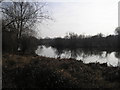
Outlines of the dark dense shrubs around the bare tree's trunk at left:
M 32 36 L 22 36 L 20 40 L 17 39 L 15 32 L 2 32 L 2 49 L 3 53 L 17 53 L 20 48 L 22 54 L 33 54 L 37 48 L 37 38 Z

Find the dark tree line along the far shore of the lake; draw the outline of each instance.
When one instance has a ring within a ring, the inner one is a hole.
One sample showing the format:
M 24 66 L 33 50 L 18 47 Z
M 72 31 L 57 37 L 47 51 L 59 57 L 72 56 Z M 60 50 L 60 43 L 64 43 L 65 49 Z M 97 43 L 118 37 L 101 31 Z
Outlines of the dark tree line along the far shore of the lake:
M 41 39 L 43 45 L 49 45 L 55 48 L 96 48 L 120 50 L 120 28 L 116 28 L 116 35 L 103 36 L 99 33 L 94 36 L 77 35 L 69 33 L 64 38 Z

